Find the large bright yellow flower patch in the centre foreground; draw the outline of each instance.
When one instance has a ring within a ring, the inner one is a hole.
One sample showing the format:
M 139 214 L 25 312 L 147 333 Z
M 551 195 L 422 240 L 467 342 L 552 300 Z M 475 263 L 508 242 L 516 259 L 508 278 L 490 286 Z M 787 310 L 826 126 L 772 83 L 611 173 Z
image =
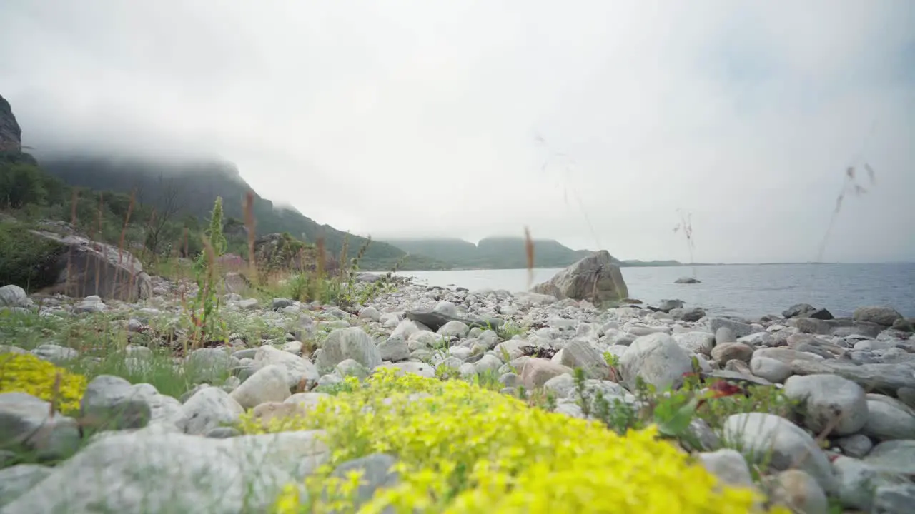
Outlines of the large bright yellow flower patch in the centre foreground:
M 587 514 L 756 512 L 763 498 L 725 487 L 651 427 L 620 436 L 598 423 L 530 408 L 459 380 L 381 370 L 364 388 L 320 402 L 314 412 L 264 428 L 246 416 L 248 433 L 321 428 L 332 456 L 328 469 L 380 452 L 396 455 L 399 486 L 378 491 L 360 513 Z M 290 512 L 343 512 L 354 477 L 332 484 L 313 477 L 310 503 L 287 487 L 276 503 Z M 341 509 L 342 508 L 342 509 Z

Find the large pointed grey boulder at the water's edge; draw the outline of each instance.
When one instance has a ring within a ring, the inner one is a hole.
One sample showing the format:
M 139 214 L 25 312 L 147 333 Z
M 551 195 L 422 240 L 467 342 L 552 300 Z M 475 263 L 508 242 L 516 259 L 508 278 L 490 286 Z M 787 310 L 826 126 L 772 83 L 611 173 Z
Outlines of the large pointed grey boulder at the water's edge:
M 623 274 L 606 250 L 594 252 L 549 281 L 534 285 L 532 291 L 560 299 L 588 300 L 595 305 L 619 302 L 629 296 Z

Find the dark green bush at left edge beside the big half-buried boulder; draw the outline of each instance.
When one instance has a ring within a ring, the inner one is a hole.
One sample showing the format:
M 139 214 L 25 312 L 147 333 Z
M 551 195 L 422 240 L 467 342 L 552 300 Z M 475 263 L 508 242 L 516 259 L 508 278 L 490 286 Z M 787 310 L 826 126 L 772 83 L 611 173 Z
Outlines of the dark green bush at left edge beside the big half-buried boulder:
M 57 262 L 66 248 L 18 223 L 0 223 L 0 284 L 35 291 L 56 284 Z

